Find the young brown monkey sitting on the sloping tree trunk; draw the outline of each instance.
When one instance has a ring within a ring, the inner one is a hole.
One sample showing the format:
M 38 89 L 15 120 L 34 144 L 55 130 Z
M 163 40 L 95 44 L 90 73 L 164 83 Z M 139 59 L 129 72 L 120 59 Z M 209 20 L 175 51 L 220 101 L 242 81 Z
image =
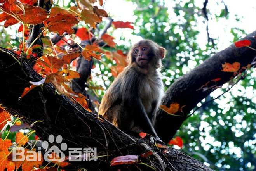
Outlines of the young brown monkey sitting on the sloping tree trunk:
M 128 66 L 103 95 L 98 114 L 120 130 L 141 128 L 162 142 L 154 129 L 156 112 L 164 94 L 160 78 L 166 50 L 152 40 L 141 40 L 127 54 Z

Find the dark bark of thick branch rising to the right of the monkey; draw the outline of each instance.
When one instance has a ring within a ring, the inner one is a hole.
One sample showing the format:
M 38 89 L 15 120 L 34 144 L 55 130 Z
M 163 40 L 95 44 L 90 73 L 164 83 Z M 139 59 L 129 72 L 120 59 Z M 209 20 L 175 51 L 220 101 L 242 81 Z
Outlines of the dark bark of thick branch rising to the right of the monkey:
M 254 36 L 256 36 L 256 31 L 247 35 L 243 40 L 250 40 L 250 47 L 256 49 L 256 38 Z M 248 47 L 237 48 L 232 44 L 230 47 L 216 53 L 199 66 L 192 69 L 189 73 L 176 80 L 167 89 L 165 97 L 162 99 L 162 104 L 169 107 L 172 102 L 179 103 L 180 106 L 184 106 L 182 108 L 183 113 L 177 112 L 176 114 L 180 116 L 172 116 L 163 110 L 159 110 L 155 125 L 158 136 L 164 142 L 171 140 L 176 131 L 181 127 L 183 121 L 185 121 L 189 112 L 197 103 L 201 102 L 202 99 L 215 90 L 212 88 L 203 91 L 200 89 L 202 85 L 210 81 L 207 86 L 214 86 L 215 82 L 211 80 L 221 78 L 221 80 L 216 82 L 217 86 L 220 86 L 233 77 L 233 73 L 221 71 L 222 64 L 225 62 L 231 64 L 233 62 L 239 62 L 241 67 L 243 67 L 251 64 L 255 57 L 255 50 L 249 49 Z M 244 69 L 242 69 L 242 71 L 244 71 Z

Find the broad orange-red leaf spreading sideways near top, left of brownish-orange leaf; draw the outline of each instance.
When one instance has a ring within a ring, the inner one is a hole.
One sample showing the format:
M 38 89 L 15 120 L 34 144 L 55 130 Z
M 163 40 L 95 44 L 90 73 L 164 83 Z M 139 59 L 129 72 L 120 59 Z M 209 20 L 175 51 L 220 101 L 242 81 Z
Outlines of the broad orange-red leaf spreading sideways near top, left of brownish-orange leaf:
M 56 14 L 47 18 L 43 23 L 49 31 L 57 31 L 59 35 L 63 35 L 64 32 L 71 35 L 74 33 L 74 29 L 71 27 L 77 24 L 78 20 L 72 14 Z

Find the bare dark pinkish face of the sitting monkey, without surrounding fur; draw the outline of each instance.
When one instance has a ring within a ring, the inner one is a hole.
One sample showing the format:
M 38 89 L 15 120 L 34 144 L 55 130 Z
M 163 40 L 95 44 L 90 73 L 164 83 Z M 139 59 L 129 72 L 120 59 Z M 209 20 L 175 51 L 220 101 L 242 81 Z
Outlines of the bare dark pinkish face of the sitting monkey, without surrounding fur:
M 132 51 L 132 58 L 135 59 L 138 66 L 142 68 L 148 65 L 153 56 L 153 50 L 148 45 L 136 46 Z

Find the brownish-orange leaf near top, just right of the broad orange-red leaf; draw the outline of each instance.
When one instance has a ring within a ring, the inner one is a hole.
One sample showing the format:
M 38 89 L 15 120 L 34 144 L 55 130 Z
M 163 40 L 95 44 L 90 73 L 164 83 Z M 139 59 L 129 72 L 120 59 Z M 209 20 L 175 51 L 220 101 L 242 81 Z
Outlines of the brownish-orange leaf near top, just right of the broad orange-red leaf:
M 102 21 L 102 18 L 94 14 L 93 12 L 83 9 L 79 18 L 83 20 L 86 24 L 90 24 L 91 27 L 96 29 L 96 24 Z

